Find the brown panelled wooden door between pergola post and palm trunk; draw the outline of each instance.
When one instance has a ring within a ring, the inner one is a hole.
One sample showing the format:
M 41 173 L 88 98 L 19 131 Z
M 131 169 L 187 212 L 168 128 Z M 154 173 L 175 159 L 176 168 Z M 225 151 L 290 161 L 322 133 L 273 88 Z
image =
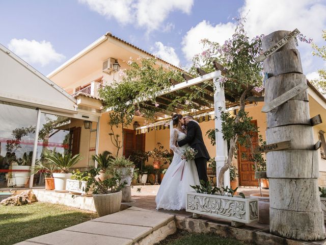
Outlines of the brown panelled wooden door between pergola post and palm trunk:
M 257 126 L 257 120 L 251 121 Z M 258 133 L 252 137 L 254 149 L 258 145 Z M 238 144 L 238 170 L 239 170 L 239 186 L 258 186 L 258 181 L 255 179 L 255 171 L 253 162 L 249 161 L 248 156 L 250 149 Z

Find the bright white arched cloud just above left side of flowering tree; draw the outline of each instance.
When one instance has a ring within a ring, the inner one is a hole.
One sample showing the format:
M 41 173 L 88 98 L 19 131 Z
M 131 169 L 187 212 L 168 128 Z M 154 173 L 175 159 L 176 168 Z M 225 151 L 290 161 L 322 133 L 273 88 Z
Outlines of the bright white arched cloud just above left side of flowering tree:
M 203 20 L 196 27 L 192 27 L 182 38 L 182 52 L 187 60 L 191 60 L 194 55 L 202 52 L 203 45 L 200 42 L 202 39 L 207 38 L 223 44 L 225 40 L 231 38 L 234 29 L 235 24 L 232 22 L 213 26 L 209 21 Z

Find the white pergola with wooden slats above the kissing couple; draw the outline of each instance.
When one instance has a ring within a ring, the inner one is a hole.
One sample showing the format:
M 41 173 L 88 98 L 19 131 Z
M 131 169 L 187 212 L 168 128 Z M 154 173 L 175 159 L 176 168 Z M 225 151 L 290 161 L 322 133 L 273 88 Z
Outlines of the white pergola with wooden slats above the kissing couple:
M 214 63 L 214 67 L 216 70 L 210 73 L 207 73 L 204 70 L 198 68 L 197 71 L 200 76 L 196 78 L 192 78 L 186 74 L 183 74 L 182 77 L 185 81 L 181 83 L 178 83 L 177 81 L 171 79 L 171 87 L 168 89 L 161 90 L 156 94 L 156 102 L 159 103 L 159 111 L 156 115 L 165 118 L 158 120 L 156 124 L 154 122 L 154 124 L 152 124 L 152 127 L 154 129 L 165 129 L 166 127 L 162 124 L 164 124 L 164 121 L 168 119 L 167 116 L 170 117 L 173 113 L 180 113 L 183 110 L 184 107 L 181 104 L 177 104 L 175 106 L 174 111 L 168 110 L 169 104 L 173 100 L 171 99 L 171 97 L 173 98 L 175 92 L 181 94 L 191 93 L 194 90 L 194 86 L 202 88 L 202 85 L 205 82 L 212 81 L 213 86 L 203 86 L 205 92 L 203 94 L 203 97 L 201 99 L 194 100 L 195 105 L 197 105 L 197 107 L 194 108 L 196 110 L 196 113 L 194 114 L 204 114 L 204 117 L 207 117 L 207 115 L 209 115 L 210 118 L 210 116 L 214 113 L 215 129 L 218 129 L 218 131 L 215 131 L 216 178 L 218 178 L 220 169 L 222 168 L 222 166 L 224 166 L 228 156 L 227 141 L 223 139 L 222 134 L 221 111 L 219 110 L 219 108 L 221 107 L 223 111 L 226 111 L 227 105 L 229 109 L 235 109 L 234 106 L 238 105 L 236 101 L 237 98 L 240 96 L 240 93 L 235 90 L 224 88 L 224 84 L 221 79 L 223 78 L 223 75 L 226 74 L 227 70 L 216 62 Z M 256 92 L 255 90 L 252 91 L 252 94 L 261 96 L 261 94 Z M 149 127 L 150 126 L 139 127 L 136 130 L 138 133 L 144 133 Z M 230 186 L 229 170 L 226 171 L 226 173 L 224 174 L 224 185 Z

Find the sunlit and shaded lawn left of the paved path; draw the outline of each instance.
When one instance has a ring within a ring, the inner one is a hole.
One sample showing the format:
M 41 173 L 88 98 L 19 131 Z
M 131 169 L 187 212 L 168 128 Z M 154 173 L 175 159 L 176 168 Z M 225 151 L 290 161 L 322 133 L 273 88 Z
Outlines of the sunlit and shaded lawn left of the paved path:
M 0 205 L 0 245 L 14 244 L 96 217 L 97 213 L 59 204 Z

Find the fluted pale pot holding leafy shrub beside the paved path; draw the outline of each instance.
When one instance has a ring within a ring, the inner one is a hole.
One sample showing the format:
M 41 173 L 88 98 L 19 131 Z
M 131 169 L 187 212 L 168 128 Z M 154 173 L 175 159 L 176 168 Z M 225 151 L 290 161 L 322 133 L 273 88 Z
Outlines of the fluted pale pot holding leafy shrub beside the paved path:
M 93 194 L 94 206 L 98 216 L 120 211 L 122 191 L 109 194 Z

